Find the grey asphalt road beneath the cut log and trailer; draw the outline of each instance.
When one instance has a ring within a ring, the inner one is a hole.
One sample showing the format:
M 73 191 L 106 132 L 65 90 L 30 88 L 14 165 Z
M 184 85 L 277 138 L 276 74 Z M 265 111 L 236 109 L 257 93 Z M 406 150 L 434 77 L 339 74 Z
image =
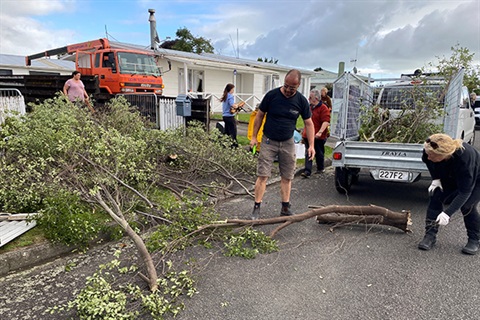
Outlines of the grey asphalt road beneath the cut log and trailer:
M 310 205 L 374 204 L 410 210 L 412 232 L 373 225 L 332 230 L 309 219 L 277 234 L 279 252 L 253 260 L 205 250 L 209 258 L 198 274 L 199 292 L 185 301 L 185 310 L 175 319 L 480 319 L 480 256 L 460 251 L 467 240 L 461 215 L 442 228 L 433 250 L 417 249 L 429 182 L 375 182 L 362 175 L 349 195 L 340 195 L 332 168 L 310 179 L 295 178 L 291 202 L 297 213 Z M 248 218 L 252 206 L 251 198 L 235 197 L 218 204 L 218 210 L 231 218 Z M 262 216 L 275 217 L 279 210 L 279 184 L 274 183 L 267 188 Z M 273 228 L 261 227 L 266 232 Z M 96 257 L 106 259 L 107 251 L 112 249 L 100 248 L 87 261 L 82 255 L 69 257 L 0 279 L 2 319 L 59 319 L 42 316 L 44 306 L 65 301 L 78 290 L 98 265 Z M 77 260 L 66 272 L 64 265 L 72 259 Z

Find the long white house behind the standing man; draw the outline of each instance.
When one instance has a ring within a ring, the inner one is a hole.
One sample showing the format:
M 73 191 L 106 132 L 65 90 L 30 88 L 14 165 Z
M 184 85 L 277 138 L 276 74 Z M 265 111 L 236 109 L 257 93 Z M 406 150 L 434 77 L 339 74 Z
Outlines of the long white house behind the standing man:
M 211 110 L 221 111 L 219 99 L 227 83 L 235 85 L 238 101 L 254 109 L 267 91 L 283 84 L 287 72 L 294 68 L 216 54 L 193 54 L 160 49 L 158 63 L 164 70 L 164 94 L 189 94 L 211 99 Z M 298 68 L 297 68 L 298 69 Z M 299 92 L 308 96 L 310 79 L 315 72 L 299 69 L 302 82 Z

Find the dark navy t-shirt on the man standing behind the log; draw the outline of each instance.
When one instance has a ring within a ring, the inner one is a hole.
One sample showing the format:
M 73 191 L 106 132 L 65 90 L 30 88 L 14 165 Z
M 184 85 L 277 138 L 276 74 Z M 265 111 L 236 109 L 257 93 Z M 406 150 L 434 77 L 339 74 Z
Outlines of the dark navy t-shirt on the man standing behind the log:
M 280 88 L 267 92 L 260 103 L 260 110 L 267 113 L 263 133 L 276 141 L 293 137 L 299 116 L 304 120 L 312 117 L 310 105 L 301 93 L 286 98 Z

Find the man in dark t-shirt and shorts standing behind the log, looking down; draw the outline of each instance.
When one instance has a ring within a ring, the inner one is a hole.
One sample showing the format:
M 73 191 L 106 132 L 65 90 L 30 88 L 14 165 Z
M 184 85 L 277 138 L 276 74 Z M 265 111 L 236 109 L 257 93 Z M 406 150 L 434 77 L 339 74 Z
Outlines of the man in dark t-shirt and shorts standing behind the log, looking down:
M 253 125 L 252 140 L 250 146 L 257 146 L 257 134 L 266 117 L 263 128 L 263 138 L 260 155 L 257 163 L 257 181 L 255 182 L 255 205 L 252 219 L 256 220 L 260 215 L 260 204 L 265 194 L 268 177 L 272 172 L 273 160 L 278 157 L 280 170 L 280 194 L 282 209 L 280 215 L 291 216 L 290 191 L 295 174 L 296 154 L 293 141 L 293 131 L 299 116 L 305 123 L 307 139 L 309 142 L 308 156 L 315 156 L 314 127 L 311 119 L 312 113 L 307 99 L 297 92 L 301 82 L 301 73 L 296 69 L 290 70 L 285 76 L 284 85 L 267 92 L 260 103 L 260 108 Z

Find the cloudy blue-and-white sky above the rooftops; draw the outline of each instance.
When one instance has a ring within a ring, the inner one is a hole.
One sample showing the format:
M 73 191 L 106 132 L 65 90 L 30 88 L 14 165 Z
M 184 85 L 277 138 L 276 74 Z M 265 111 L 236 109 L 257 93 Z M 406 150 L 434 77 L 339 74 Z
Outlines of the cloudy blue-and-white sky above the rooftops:
M 1 0 L 0 53 L 28 55 L 102 38 L 149 45 L 178 28 L 215 53 L 360 74 L 413 72 L 457 44 L 480 59 L 479 0 Z

